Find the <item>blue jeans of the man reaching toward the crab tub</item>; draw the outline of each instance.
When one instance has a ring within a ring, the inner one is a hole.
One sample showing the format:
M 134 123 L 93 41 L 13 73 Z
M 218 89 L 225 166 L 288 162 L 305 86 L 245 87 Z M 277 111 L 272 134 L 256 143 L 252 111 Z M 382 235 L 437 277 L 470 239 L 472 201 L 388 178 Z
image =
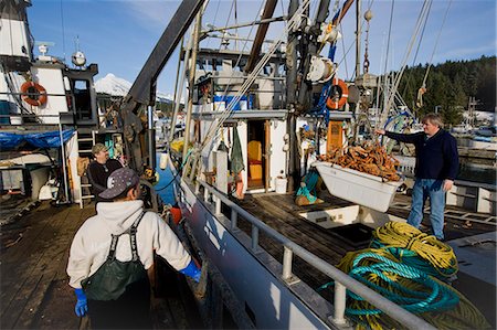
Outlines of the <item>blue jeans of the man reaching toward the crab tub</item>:
M 430 221 L 432 222 L 433 235 L 438 239 L 444 238 L 444 209 L 445 191 L 444 180 L 416 179 L 412 189 L 412 206 L 408 223 L 416 228 L 423 221 L 424 202 L 430 196 Z

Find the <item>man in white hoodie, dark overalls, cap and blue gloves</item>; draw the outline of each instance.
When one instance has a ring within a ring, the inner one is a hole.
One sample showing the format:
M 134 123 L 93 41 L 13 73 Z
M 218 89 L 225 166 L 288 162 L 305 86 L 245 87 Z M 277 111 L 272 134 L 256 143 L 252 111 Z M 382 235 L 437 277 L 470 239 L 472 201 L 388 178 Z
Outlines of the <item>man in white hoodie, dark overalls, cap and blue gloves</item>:
M 135 171 L 123 168 L 107 180 L 97 214 L 77 231 L 67 264 L 76 294 L 75 312 L 88 313 L 94 329 L 151 329 L 147 269 L 154 252 L 180 273 L 200 279 L 190 254 L 155 212 L 145 212 Z

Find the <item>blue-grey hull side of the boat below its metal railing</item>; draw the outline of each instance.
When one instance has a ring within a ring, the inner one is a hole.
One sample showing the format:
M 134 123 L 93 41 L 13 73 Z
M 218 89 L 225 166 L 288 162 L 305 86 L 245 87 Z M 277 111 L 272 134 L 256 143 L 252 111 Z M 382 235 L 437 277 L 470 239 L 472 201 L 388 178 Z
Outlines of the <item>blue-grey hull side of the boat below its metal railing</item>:
M 177 191 L 181 192 L 178 202 L 199 248 L 219 268 L 256 328 L 330 328 L 293 291 L 302 295 L 303 287 L 307 287 L 305 284 L 290 289 L 275 276 L 282 269 L 277 260 L 262 248 L 254 253 L 246 234 L 228 230 L 229 220 L 224 215 L 215 215 L 213 205 L 199 199 L 190 184 L 177 180 Z M 331 315 L 331 306 L 319 296 L 316 298 L 322 300 L 319 302 L 322 312 Z

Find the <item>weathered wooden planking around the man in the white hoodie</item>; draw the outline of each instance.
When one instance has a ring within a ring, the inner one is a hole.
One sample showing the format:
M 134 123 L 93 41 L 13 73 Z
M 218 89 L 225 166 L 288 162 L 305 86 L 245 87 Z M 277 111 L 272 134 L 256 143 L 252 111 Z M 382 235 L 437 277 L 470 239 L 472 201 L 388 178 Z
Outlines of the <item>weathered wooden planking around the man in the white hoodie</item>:
M 74 313 L 75 297 L 65 269 L 72 238 L 95 213 L 95 205 L 81 210 L 78 205 L 54 207 L 43 202 L 33 211 L 1 226 L 0 328 L 87 328 L 87 319 Z M 155 287 L 155 329 L 203 328 L 184 280 L 176 274 L 161 274 L 168 283 Z M 177 284 L 170 285 L 171 280 Z

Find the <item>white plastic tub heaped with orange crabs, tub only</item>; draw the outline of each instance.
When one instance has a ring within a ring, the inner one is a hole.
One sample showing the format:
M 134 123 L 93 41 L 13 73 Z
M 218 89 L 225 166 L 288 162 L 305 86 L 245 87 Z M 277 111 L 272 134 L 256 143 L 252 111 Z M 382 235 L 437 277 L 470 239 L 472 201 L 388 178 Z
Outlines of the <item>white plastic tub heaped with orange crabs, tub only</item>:
M 385 212 L 402 181 L 382 182 L 380 177 L 345 169 L 329 162 L 315 162 L 329 193 L 337 198 Z

